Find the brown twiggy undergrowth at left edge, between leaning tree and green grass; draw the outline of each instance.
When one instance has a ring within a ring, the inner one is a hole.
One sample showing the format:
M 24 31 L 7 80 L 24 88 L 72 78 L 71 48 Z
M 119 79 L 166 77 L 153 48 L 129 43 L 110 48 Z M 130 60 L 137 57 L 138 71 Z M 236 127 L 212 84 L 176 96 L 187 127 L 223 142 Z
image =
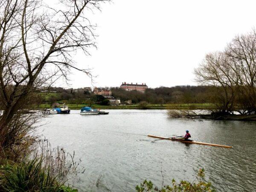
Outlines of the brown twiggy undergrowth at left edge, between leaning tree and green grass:
M 8 125 L 1 128 L 0 162 L 12 160 L 21 162 L 32 151 L 37 136 L 35 123 L 41 119 L 40 113 L 26 113 L 20 110 Z

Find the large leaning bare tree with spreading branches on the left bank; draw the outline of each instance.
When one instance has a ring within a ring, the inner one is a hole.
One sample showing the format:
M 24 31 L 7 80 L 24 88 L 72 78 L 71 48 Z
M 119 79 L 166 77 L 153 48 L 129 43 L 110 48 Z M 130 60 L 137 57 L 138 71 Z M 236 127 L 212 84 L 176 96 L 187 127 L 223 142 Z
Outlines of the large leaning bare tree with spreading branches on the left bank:
M 38 87 L 58 78 L 68 79 L 71 69 L 91 77 L 90 70 L 76 67 L 73 53 L 89 54 L 96 47 L 93 26 L 86 12 L 100 9 L 109 0 L 59 0 L 47 6 L 41 0 L 0 1 L 0 147 L 14 145 L 10 137 L 22 137 L 14 125 L 19 112 L 29 106 Z M 25 117 L 23 117 L 25 118 Z M 29 125 L 30 126 L 30 125 Z M 8 144 L 7 144 L 8 143 Z

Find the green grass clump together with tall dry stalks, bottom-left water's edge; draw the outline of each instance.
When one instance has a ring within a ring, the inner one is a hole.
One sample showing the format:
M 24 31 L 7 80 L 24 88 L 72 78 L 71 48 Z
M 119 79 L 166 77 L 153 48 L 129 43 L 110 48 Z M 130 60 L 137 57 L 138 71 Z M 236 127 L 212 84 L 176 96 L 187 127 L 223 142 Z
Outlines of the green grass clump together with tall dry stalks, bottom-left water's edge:
M 23 160 L 0 161 L 0 191 L 76 192 L 65 183 L 77 179 L 81 160 L 63 148 L 51 148 L 47 140 L 39 140 Z M 84 172 L 84 170 L 83 170 Z

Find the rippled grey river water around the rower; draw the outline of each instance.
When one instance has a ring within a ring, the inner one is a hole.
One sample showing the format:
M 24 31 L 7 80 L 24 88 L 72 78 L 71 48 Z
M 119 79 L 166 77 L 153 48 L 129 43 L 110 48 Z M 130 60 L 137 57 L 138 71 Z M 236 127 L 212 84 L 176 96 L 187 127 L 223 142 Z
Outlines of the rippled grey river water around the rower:
M 52 146 L 81 158 L 80 191 L 130 192 L 145 179 L 157 186 L 162 179 L 164 184 L 172 178 L 193 181 L 200 168 L 218 191 L 255 191 L 256 122 L 173 119 L 166 110 L 105 111 L 109 115 L 81 116 L 72 110 L 41 122 L 40 132 Z M 195 141 L 233 148 L 151 142 L 154 138 L 146 136 L 179 136 L 186 130 Z

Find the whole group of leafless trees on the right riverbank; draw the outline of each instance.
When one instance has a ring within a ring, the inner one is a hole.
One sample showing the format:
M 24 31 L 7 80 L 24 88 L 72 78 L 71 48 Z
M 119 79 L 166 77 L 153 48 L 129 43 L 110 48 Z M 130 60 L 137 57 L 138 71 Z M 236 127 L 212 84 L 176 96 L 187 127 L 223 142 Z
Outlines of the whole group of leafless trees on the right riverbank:
M 237 35 L 224 52 L 207 54 L 194 73 L 199 83 L 215 88 L 218 112 L 256 114 L 256 31 Z

